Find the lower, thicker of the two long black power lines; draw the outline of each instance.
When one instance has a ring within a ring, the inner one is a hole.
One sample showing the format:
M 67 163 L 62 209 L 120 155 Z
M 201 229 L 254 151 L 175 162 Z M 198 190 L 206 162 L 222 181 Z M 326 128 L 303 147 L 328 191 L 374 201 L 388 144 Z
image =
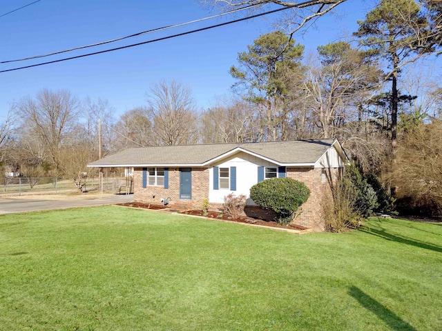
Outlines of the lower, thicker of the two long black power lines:
M 75 57 L 66 57 L 64 59 L 48 61 L 48 62 L 43 62 L 43 63 L 37 63 L 37 64 L 32 64 L 31 66 L 24 66 L 24 67 L 19 67 L 19 68 L 12 68 L 12 69 L 7 69 L 7 70 L 1 70 L 0 73 L 2 73 L 2 72 L 9 72 L 9 71 L 15 71 L 15 70 L 21 70 L 21 69 L 28 69 L 28 68 L 38 67 L 38 66 L 45 66 L 46 64 L 63 62 L 63 61 L 68 61 L 68 60 L 73 60 L 73 59 L 79 59 L 81 57 L 90 57 L 92 55 L 103 54 L 103 53 L 107 53 L 107 52 L 113 52 L 115 50 L 124 50 L 125 48 L 131 48 L 131 47 L 135 47 L 135 46 L 140 46 L 140 45 L 144 45 L 146 43 L 154 43 L 156 41 L 162 41 L 162 40 L 171 39 L 171 38 L 175 38 L 175 37 L 182 37 L 182 36 L 185 36 L 186 34 L 192 34 L 192 33 L 195 33 L 195 32 L 201 32 L 201 31 L 210 30 L 210 29 L 213 29 L 213 28 L 220 28 L 221 26 L 227 26 L 227 25 L 232 24 L 232 23 L 238 23 L 238 22 L 241 22 L 241 21 L 246 21 L 247 19 L 255 19 L 256 17 L 261 17 L 261 16 L 264 16 L 264 15 L 267 15 L 267 14 L 273 14 L 275 12 L 280 12 L 282 10 L 287 10 L 287 9 L 290 9 L 290 8 L 287 8 L 287 7 L 278 8 L 276 10 L 271 10 L 269 12 L 262 12 L 260 14 L 255 14 L 255 15 L 252 15 L 252 16 L 249 16 L 249 17 L 243 17 L 241 19 L 235 19 L 233 21 L 228 21 L 228 22 L 224 22 L 224 23 L 220 23 L 220 24 L 215 24 L 214 26 L 206 26 L 205 28 L 200 28 L 200 29 L 196 29 L 196 30 L 182 32 L 182 33 L 178 33 L 178 34 L 172 34 L 171 36 L 157 38 L 157 39 L 152 39 L 152 40 L 148 40 L 148 41 L 143 41 L 142 43 L 133 43 L 131 45 L 117 47 L 117 48 L 111 48 L 109 50 L 101 50 L 99 52 L 93 52 L 93 53 L 88 53 L 88 54 L 83 54 L 83 55 L 77 55 Z

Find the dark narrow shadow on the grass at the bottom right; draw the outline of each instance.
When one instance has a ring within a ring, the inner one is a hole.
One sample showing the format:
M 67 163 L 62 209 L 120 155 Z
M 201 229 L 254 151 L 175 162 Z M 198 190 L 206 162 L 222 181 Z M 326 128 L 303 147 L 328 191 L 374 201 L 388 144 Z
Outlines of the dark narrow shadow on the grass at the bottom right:
M 398 317 L 394 312 L 381 303 L 378 303 L 378 301 L 365 292 L 359 290 L 359 288 L 356 288 L 356 286 L 350 288 L 349 294 L 358 300 L 365 309 L 373 312 L 377 317 L 382 319 L 392 330 L 416 331 L 412 325 L 405 322 L 401 317 Z

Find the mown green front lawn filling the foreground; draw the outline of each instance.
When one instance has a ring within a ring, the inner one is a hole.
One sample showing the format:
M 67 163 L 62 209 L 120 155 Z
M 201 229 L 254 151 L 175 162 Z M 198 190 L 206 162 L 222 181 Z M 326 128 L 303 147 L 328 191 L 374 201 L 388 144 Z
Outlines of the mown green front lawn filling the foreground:
M 115 206 L 0 216 L 0 330 L 442 330 L 442 226 L 346 234 Z

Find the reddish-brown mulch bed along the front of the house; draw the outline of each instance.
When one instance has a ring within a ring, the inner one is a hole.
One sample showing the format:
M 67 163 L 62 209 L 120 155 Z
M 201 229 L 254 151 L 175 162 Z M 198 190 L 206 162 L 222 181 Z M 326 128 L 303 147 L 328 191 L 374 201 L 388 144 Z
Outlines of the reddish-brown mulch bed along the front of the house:
M 169 205 L 155 205 L 151 203 L 142 203 L 142 202 L 126 202 L 126 203 L 118 203 L 117 205 L 122 205 L 124 207 L 131 207 L 131 208 L 149 209 L 149 210 L 162 210 L 170 208 Z M 240 216 L 238 217 L 238 219 L 233 219 L 232 217 L 229 217 L 228 214 L 223 214 L 222 212 L 207 212 L 206 214 L 204 214 L 202 210 L 185 210 L 184 212 L 179 212 L 179 214 L 209 217 L 212 219 L 223 219 L 225 221 L 233 221 L 238 223 L 264 225 L 264 226 L 270 226 L 271 228 L 307 230 L 307 228 L 304 228 L 303 226 L 300 225 L 280 225 L 275 221 L 264 221 L 262 219 L 253 219 L 251 217 L 245 217 L 245 216 Z

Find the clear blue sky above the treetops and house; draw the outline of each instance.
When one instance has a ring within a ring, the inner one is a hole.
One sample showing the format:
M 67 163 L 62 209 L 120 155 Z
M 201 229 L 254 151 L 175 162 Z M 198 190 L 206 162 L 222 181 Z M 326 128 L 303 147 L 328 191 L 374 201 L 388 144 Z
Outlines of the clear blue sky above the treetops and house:
M 33 1 L 0 0 L 0 15 Z M 294 39 L 305 45 L 308 57 L 317 46 L 338 41 L 357 30 L 357 20 L 365 18 L 373 3 L 347 0 L 334 14 L 321 17 L 314 26 L 295 34 Z M 198 0 L 40 0 L 0 17 L 0 61 L 84 46 L 211 14 L 215 12 L 202 8 Z M 228 15 L 54 57 L 0 64 L 0 70 L 140 43 L 242 15 Z M 199 109 L 209 108 L 216 98 L 231 91 L 234 81 L 229 68 L 238 63 L 238 52 L 247 50 L 254 39 L 273 30 L 270 22 L 276 15 L 91 57 L 2 72 L 0 121 L 15 102 L 23 97 L 35 97 L 43 88 L 68 90 L 78 99 L 107 100 L 115 117 L 119 117 L 145 105 L 146 93 L 155 83 L 175 80 L 191 88 Z

